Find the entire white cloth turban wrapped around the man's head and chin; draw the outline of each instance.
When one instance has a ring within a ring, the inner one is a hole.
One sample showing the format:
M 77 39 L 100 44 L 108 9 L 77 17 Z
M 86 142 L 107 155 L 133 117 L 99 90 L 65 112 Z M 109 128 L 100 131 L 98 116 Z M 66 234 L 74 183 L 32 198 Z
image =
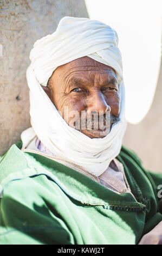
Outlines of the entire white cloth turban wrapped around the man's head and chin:
M 104 138 L 89 138 L 70 127 L 42 86 L 60 65 L 88 56 L 111 66 L 117 74 L 121 96 L 120 121 Z M 99 176 L 120 153 L 126 129 L 125 90 L 118 35 L 106 24 L 86 18 L 63 17 L 51 34 L 37 40 L 27 69 L 31 126 L 40 141 L 57 157 L 73 162 Z

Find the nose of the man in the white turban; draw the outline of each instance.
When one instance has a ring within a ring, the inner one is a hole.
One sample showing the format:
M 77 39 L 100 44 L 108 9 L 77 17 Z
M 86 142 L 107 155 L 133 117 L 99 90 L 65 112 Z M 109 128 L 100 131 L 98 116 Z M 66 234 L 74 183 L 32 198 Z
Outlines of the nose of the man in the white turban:
M 97 112 L 100 114 L 100 111 L 105 114 L 107 111 L 111 111 L 111 107 L 105 100 L 102 92 L 95 92 L 90 96 L 87 102 L 87 114 L 92 114 L 92 112 Z

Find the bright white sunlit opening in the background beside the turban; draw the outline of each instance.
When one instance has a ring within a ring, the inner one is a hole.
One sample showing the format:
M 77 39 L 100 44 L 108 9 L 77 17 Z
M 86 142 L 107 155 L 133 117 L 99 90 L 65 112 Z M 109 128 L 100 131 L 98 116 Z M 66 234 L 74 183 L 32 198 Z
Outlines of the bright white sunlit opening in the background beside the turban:
M 161 57 L 161 0 L 85 0 L 90 19 L 115 29 L 124 67 L 126 119 L 139 123 L 157 86 Z M 161 95 L 162 96 L 162 95 Z

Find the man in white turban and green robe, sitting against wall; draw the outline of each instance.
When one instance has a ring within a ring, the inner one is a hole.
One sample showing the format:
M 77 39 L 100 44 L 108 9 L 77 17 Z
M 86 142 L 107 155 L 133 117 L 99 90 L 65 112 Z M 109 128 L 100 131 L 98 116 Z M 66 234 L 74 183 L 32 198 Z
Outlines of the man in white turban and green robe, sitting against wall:
M 148 173 L 121 147 L 125 97 L 116 32 L 100 21 L 64 17 L 35 43 L 30 60 L 32 127 L 0 162 L 0 242 L 160 243 L 162 175 Z

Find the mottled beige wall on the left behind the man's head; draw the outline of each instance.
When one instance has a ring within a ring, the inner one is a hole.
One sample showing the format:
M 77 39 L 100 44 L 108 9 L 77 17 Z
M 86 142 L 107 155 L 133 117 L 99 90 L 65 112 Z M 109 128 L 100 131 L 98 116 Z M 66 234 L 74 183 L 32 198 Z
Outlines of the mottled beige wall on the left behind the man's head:
M 29 52 L 63 16 L 88 17 L 83 0 L 0 1 L 0 155 L 30 126 L 25 71 Z M 1 54 L 0 54 L 1 56 Z

